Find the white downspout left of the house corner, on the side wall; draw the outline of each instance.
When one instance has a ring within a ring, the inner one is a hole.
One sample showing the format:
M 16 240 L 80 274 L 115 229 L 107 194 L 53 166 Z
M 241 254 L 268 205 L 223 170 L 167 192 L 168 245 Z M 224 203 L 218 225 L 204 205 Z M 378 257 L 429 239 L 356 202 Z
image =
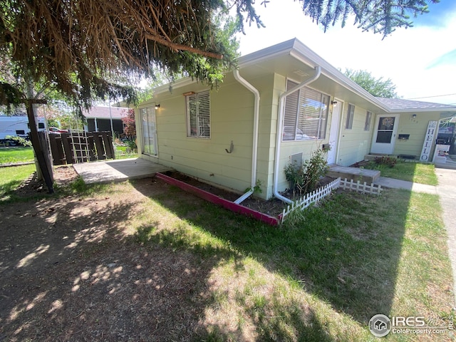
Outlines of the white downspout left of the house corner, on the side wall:
M 252 195 L 254 193 L 254 187 L 257 185 L 257 156 L 258 156 L 258 125 L 259 125 L 259 91 L 257 88 L 252 86 L 247 80 L 242 78 L 241 75 L 239 75 L 239 70 L 234 69 L 233 71 L 234 78 L 242 84 L 245 88 L 249 89 L 252 93 L 254 93 L 255 96 L 255 102 L 254 102 L 254 131 L 253 131 L 253 143 L 252 143 L 252 182 L 251 182 L 251 187 L 250 190 L 247 191 L 244 195 L 239 197 L 234 201 L 234 203 L 241 203 Z

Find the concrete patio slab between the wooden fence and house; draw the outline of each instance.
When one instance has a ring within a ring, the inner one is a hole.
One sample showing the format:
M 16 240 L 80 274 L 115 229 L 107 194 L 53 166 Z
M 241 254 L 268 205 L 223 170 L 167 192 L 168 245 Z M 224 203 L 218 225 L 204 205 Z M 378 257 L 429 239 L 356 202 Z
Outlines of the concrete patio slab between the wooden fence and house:
M 157 172 L 172 170 L 170 167 L 141 158 L 83 162 L 73 164 L 73 167 L 86 184 L 123 182 L 152 177 Z

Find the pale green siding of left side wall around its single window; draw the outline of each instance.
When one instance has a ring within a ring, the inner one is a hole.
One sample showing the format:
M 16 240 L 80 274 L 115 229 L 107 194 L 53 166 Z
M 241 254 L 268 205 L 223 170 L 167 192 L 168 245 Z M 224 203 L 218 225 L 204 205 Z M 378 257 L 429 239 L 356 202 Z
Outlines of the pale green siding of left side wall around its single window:
M 251 81 L 254 86 L 267 88 L 272 79 Z M 206 182 L 222 185 L 238 192 L 251 186 L 254 95 L 241 86 L 232 76 L 224 79 L 219 90 L 211 90 L 211 138 L 187 137 L 185 96 L 187 91 L 204 90 L 198 83 L 185 86 L 173 93 L 161 93 L 154 101 L 157 110 L 158 162 L 174 167 Z M 261 95 L 268 90 L 261 89 Z M 271 90 L 269 90 L 269 93 Z M 261 98 L 259 128 L 259 170 L 269 160 L 270 110 L 266 96 Z M 270 101 L 270 100 L 269 100 Z M 147 105 L 143 104 L 141 107 Z M 232 153 L 227 153 L 233 142 Z M 144 156 L 146 159 L 150 157 Z M 266 188 L 264 172 L 258 179 Z M 265 193 L 262 194 L 265 197 Z

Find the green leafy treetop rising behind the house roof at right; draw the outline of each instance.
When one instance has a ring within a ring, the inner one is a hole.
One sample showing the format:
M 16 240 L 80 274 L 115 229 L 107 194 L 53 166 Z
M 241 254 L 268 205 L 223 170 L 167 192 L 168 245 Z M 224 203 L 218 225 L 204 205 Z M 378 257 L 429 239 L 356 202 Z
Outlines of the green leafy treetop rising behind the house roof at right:
M 343 72 L 351 81 L 378 98 L 398 98 L 396 86 L 390 78 L 375 78 L 366 70 L 347 69 Z

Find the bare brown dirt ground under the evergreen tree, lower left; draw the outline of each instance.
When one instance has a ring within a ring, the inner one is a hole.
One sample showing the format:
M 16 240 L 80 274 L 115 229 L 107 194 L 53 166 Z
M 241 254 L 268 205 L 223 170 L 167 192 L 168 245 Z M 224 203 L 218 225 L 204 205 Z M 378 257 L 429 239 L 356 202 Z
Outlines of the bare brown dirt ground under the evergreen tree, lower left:
M 56 169 L 56 182 L 76 177 L 71 170 Z M 31 177 L 18 192 L 30 195 L 36 184 Z M 138 243 L 130 222 L 169 192 L 165 182 L 113 188 L 0 206 L 0 341 L 195 337 L 213 261 Z

